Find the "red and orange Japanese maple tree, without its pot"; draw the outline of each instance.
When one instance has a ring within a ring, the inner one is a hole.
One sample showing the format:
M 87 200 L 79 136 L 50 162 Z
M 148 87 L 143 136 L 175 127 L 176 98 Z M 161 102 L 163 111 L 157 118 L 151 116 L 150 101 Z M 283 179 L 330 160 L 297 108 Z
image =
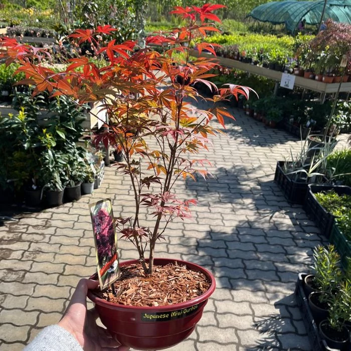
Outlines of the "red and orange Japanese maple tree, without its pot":
M 116 45 L 112 40 L 100 45 L 116 30 L 108 25 L 77 30 L 71 40 L 88 42 L 106 60 L 93 63 L 84 56 L 70 59 L 67 69 L 59 73 L 43 65 L 50 60 L 45 49 L 9 38 L 1 42 L 2 57 L 7 64 L 20 63 L 18 71 L 26 75 L 20 83 L 35 86 L 34 94 L 47 90 L 53 96 L 69 96 L 79 105 L 100 102 L 100 108 L 107 112 L 107 129 L 95 136 L 95 142 L 103 141 L 123 151 L 124 160 L 117 167 L 129 176 L 135 209 L 132 218 L 117 218 L 116 227 L 135 245 L 145 274 L 152 274 L 155 244 L 167 225 L 174 218 L 189 217 L 190 206 L 196 204 L 195 200 L 178 199 L 172 192 L 174 183 L 187 177 L 195 180 L 196 172 L 206 178 L 203 167 L 209 162 L 196 155 L 208 150 L 208 136 L 219 132 L 211 120 L 217 118 L 224 127 L 226 117 L 234 119 L 218 102 L 232 95 L 237 98 L 238 94 L 249 97 L 248 87 L 227 84 L 217 90 L 206 80 L 214 76 L 211 70 L 218 65 L 215 57 L 190 60 L 195 34 L 205 37 L 218 32 L 212 22 L 220 22 L 214 11 L 222 7 L 174 8 L 172 13 L 187 20 L 188 25 L 146 38 L 146 48 L 139 50 L 134 50 L 136 43 L 132 41 Z M 215 56 L 215 45 L 197 43 L 195 48 L 200 54 L 207 50 Z M 150 46 L 158 46 L 161 53 Z M 195 83 L 206 84 L 214 96 L 200 96 Z M 190 102 L 199 99 L 207 100 L 211 108 L 194 109 Z M 142 223 L 142 206 L 151 209 L 152 226 Z

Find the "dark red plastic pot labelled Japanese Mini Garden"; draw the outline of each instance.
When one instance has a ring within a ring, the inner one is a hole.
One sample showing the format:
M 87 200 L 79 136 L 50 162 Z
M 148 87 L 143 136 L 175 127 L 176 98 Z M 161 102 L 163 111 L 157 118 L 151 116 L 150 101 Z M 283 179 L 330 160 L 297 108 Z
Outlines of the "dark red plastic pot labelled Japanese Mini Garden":
M 128 266 L 137 263 L 131 260 L 120 263 Z M 202 317 L 208 298 L 216 288 L 214 276 L 201 266 L 182 260 L 155 258 L 154 265 L 178 262 L 194 271 L 204 273 L 210 280 L 210 288 L 192 300 L 166 306 L 124 306 L 108 302 L 88 291 L 95 303 L 101 322 L 124 346 L 139 350 L 159 350 L 174 346 L 187 338 Z

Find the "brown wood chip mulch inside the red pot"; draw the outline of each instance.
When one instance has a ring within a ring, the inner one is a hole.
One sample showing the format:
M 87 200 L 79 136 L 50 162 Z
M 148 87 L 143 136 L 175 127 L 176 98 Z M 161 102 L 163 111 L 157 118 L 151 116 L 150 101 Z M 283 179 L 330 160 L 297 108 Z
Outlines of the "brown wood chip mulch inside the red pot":
M 162 306 L 185 302 L 205 293 L 211 282 L 201 272 L 186 266 L 167 264 L 154 266 L 152 275 L 145 275 L 141 264 L 121 267 L 120 278 L 111 287 L 95 295 L 109 302 L 131 306 Z

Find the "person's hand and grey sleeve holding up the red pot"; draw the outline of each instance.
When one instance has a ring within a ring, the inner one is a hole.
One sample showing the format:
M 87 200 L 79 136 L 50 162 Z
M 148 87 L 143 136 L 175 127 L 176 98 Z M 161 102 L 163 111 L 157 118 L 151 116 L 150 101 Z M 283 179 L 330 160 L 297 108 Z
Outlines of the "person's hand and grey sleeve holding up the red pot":
M 127 351 L 96 324 L 95 309 L 87 310 L 88 289 L 98 285 L 96 280 L 81 279 L 58 324 L 44 328 L 24 351 Z

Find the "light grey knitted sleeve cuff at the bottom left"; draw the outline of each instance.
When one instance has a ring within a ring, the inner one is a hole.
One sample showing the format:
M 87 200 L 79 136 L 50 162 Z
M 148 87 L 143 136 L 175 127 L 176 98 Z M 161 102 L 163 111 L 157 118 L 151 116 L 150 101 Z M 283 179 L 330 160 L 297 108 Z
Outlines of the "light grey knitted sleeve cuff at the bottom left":
M 79 342 L 61 326 L 44 328 L 23 351 L 82 351 Z

